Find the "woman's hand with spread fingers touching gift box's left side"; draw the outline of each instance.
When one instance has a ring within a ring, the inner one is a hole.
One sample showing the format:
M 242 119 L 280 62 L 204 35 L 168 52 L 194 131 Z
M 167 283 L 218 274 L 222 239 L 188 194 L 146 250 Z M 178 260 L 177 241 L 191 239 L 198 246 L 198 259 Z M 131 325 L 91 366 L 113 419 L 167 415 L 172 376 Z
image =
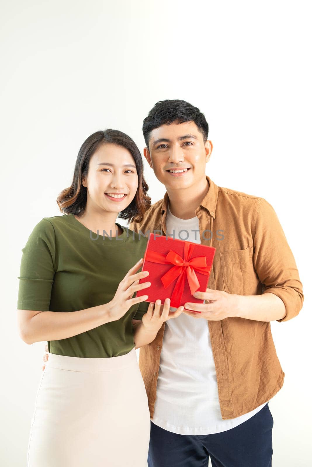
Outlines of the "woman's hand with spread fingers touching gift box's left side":
M 141 258 L 141 260 L 138 261 L 135 266 L 133 266 L 133 268 L 129 269 L 126 276 L 119 283 L 113 300 L 108 302 L 107 307 L 109 321 L 117 321 L 127 313 L 132 305 L 144 302 L 147 298 L 149 298 L 148 295 L 131 298 L 137 290 L 150 287 L 150 282 L 139 284 L 139 280 L 143 277 L 147 277 L 149 275 L 149 271 L 141 271 L 137 274 L 134 274 L 138 269 L 141 268 L 142 262 L 143 258 Z

